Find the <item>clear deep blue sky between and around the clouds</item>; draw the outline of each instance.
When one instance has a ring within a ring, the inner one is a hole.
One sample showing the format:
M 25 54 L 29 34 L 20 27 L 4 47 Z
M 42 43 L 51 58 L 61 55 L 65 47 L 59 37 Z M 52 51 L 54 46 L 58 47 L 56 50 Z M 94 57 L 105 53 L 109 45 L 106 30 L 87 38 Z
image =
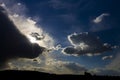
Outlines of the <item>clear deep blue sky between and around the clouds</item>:
M 21 0 L 21 2 L 28 8 L 28 15 L 40 17 L 38 24 L 62 46 L 69 45 L 67 42 L 69 34 L 86 31 L 95 33 L 103 42 L 120 44 L 119 0 Z M 93 23 L 93 20 L 103 13 L 109 16 L 98 24 Z M 93 26 L 98 27 L 98 30 L 91 30 Z M 99 27 L 102 28 L 99 30 Z M 92 65 L 106 64 L 100 60 L 101 56 L 89 59 L 88 57 L 70 58 L 78 62 L 84 61 L 85 64 L 94 60 L 97 62 Z

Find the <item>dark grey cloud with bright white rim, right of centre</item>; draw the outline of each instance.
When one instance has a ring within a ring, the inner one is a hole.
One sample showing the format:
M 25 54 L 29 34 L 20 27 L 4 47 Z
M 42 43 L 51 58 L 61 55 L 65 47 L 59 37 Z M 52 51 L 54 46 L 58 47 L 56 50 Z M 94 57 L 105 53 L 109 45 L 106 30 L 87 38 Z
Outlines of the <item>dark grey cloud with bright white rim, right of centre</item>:
M 102 41 L 90 32 L 74 33 L 68 35 L 68 40 L 72 47 L 66 47 L 62 50 L 68 55 L 101 54 L 112 50 L 112 47 Z

